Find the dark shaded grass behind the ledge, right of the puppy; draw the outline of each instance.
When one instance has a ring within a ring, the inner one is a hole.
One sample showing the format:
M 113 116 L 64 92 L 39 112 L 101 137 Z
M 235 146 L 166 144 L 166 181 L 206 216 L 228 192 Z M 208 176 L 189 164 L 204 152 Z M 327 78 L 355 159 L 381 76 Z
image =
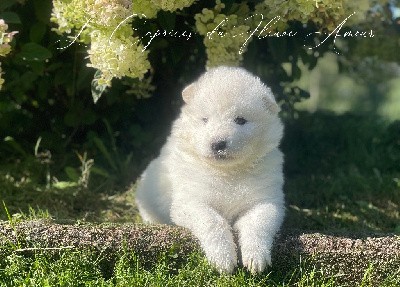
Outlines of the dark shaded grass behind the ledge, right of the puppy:
M 286 129 L 287 226 L 400 234 L 400 121 L 306 114 Z

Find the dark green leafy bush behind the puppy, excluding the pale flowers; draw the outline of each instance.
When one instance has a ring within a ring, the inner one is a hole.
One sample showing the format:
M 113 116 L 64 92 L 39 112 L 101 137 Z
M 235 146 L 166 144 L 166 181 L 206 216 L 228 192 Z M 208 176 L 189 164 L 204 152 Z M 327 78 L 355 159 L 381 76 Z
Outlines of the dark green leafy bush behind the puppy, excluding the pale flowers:
M 254 9 L 259 2 L 248 1 L 246 5 Z M 271 11 L 283 13 L 278 2 L 270 1 L 268 5 L 275 9 Z M 313 1 L 295 2 L 288 1 L 288 5 L 301 11 Z M 340 19 L 320 16 L 325 22 L 318 26 L 317 16 L 311 19 L 314 23 L 307 23 L 308 18 L 302 19 L 300 13 L 296 21 L 284 18 L 286 27 L 297 32 L 297 37 L 252 41 L 242 65 L 272 86 L 287 119 L 298 116 L 295 104 L 309 96 L 305 89 L 294 84 L 304 72 L 301 67 L 313 69 L 327 52 L 341 54 L 337 58 L 341 71 L 353 71 L 359 81 L 368 81 L 372 90 L 375 86 L 371 79 L 379 81 L 376 73 L 372 76 L 362 73 L 380 67 L 380 81 L 387 80 L 398 71 L 382 67 L 381 60 L 399 61 L 396 42 L 399 25 L 394 10 L 389 9 L 398 3 L 378 2 L 371 2 L 372 10 L 366 21 L 344 28 L 346 31 L 374 29 L 377 34 L 374 38 L 349 39 L 341 45 L 330 41 L 310 51 L 309 46 L 326 37 L 314 33 L 324 30 L 324 25 L 325 28 L 330 25 L 332 30 L 335 27 L 332 25 Z M 241 1 L 223 3 L 224 13 L 232 13 L 232 7 L 244 5 Z M 315 1 L 315 5 L 318 3 L 322 1 Z M 157 29 L 193 32 L 196 24 L 193 15 L 201 13 L 204 7 L 213 9 L 215 2 L 198 1 L 178 12 L 160 10 L 154 19 L 138 19 L 135 25 L 142 34 Z M 164 142 L 168 126 L 182 104 L 182 88 L 204 71 L 207 63 L 204 37 L 193 33 L 189 40 L 155 38 L 148 55 L 152 68 L 145 77 L 113 80 L 112 87 L 94 104 L 90 83 L 96 71 L 87 67 L 87 47 L 74 43 L 60 49 L 68 44 L 68 38 L 52 31 L 56 25 L 50 22 L 51 10 L 50 0 L 0 3 L 0 18 L 6 20 L 10 30 L 19 31 L 11 54 L 1 59 L 5 84 L 0 91 L 0 160 L 16 170 L 21 162 L 25 167 L 32 166 L 38 181 L 49 183 L 54 181 L 53 177 L 76 181 L 82 161 L 94 159 L 93 176 L 100 180 L 95 181 L 96 185 L 108 190 L 126 186 Z M 307 37 L 310 33 L 315 36 Z M 371 97 L 377 95 L 379 89 L 371 92 Z M 377 101 L 381 100 L 378 96 Z

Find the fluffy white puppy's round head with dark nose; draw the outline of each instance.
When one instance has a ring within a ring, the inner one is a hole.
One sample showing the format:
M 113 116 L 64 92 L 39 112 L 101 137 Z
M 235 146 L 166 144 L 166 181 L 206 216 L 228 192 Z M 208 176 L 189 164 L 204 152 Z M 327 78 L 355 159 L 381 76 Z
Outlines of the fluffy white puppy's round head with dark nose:
M 242 68 L 211 69 L 182 97 L 183 144 L 214 165 L 251 164 L 279 145 L 283 127 L 274 96 Z

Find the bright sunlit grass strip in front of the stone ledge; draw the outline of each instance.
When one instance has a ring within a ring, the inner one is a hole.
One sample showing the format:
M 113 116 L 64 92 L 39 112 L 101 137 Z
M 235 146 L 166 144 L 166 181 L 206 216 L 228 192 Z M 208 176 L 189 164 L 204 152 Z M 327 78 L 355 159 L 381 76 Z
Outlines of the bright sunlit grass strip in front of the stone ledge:
M 335 278 L 325 278 L 316 268 L 305 266 L 283 277 L 273 271 L 251 275 L 242 269 L 235 275 L 220 275 L 199 254 L 192 254 L 181 266 L 165 256 L 157 264 L 144 267 L 129 252 L 120 254 L 113 266 L 104 265 L 101 257 L 87 251 L 64 250 L 50 255 L 37 251 L 29 256 L 4 250 L 1 253 L 4 256 L 0 259 L 0 286 L 10 287 L 337 286 Z

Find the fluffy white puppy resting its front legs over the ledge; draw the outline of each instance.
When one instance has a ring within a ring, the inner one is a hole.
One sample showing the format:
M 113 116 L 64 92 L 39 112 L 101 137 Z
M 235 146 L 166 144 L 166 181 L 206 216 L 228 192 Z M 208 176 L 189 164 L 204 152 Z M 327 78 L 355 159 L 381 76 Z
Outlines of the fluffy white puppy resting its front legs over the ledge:
M 273 94 L 246 70 L 219 67 L 182 96 L 181 115 L 139 182 L 140 214 L 190 229 L 220 272 L 232 273 L 238 260 L 262 272 L 284 217 Z

